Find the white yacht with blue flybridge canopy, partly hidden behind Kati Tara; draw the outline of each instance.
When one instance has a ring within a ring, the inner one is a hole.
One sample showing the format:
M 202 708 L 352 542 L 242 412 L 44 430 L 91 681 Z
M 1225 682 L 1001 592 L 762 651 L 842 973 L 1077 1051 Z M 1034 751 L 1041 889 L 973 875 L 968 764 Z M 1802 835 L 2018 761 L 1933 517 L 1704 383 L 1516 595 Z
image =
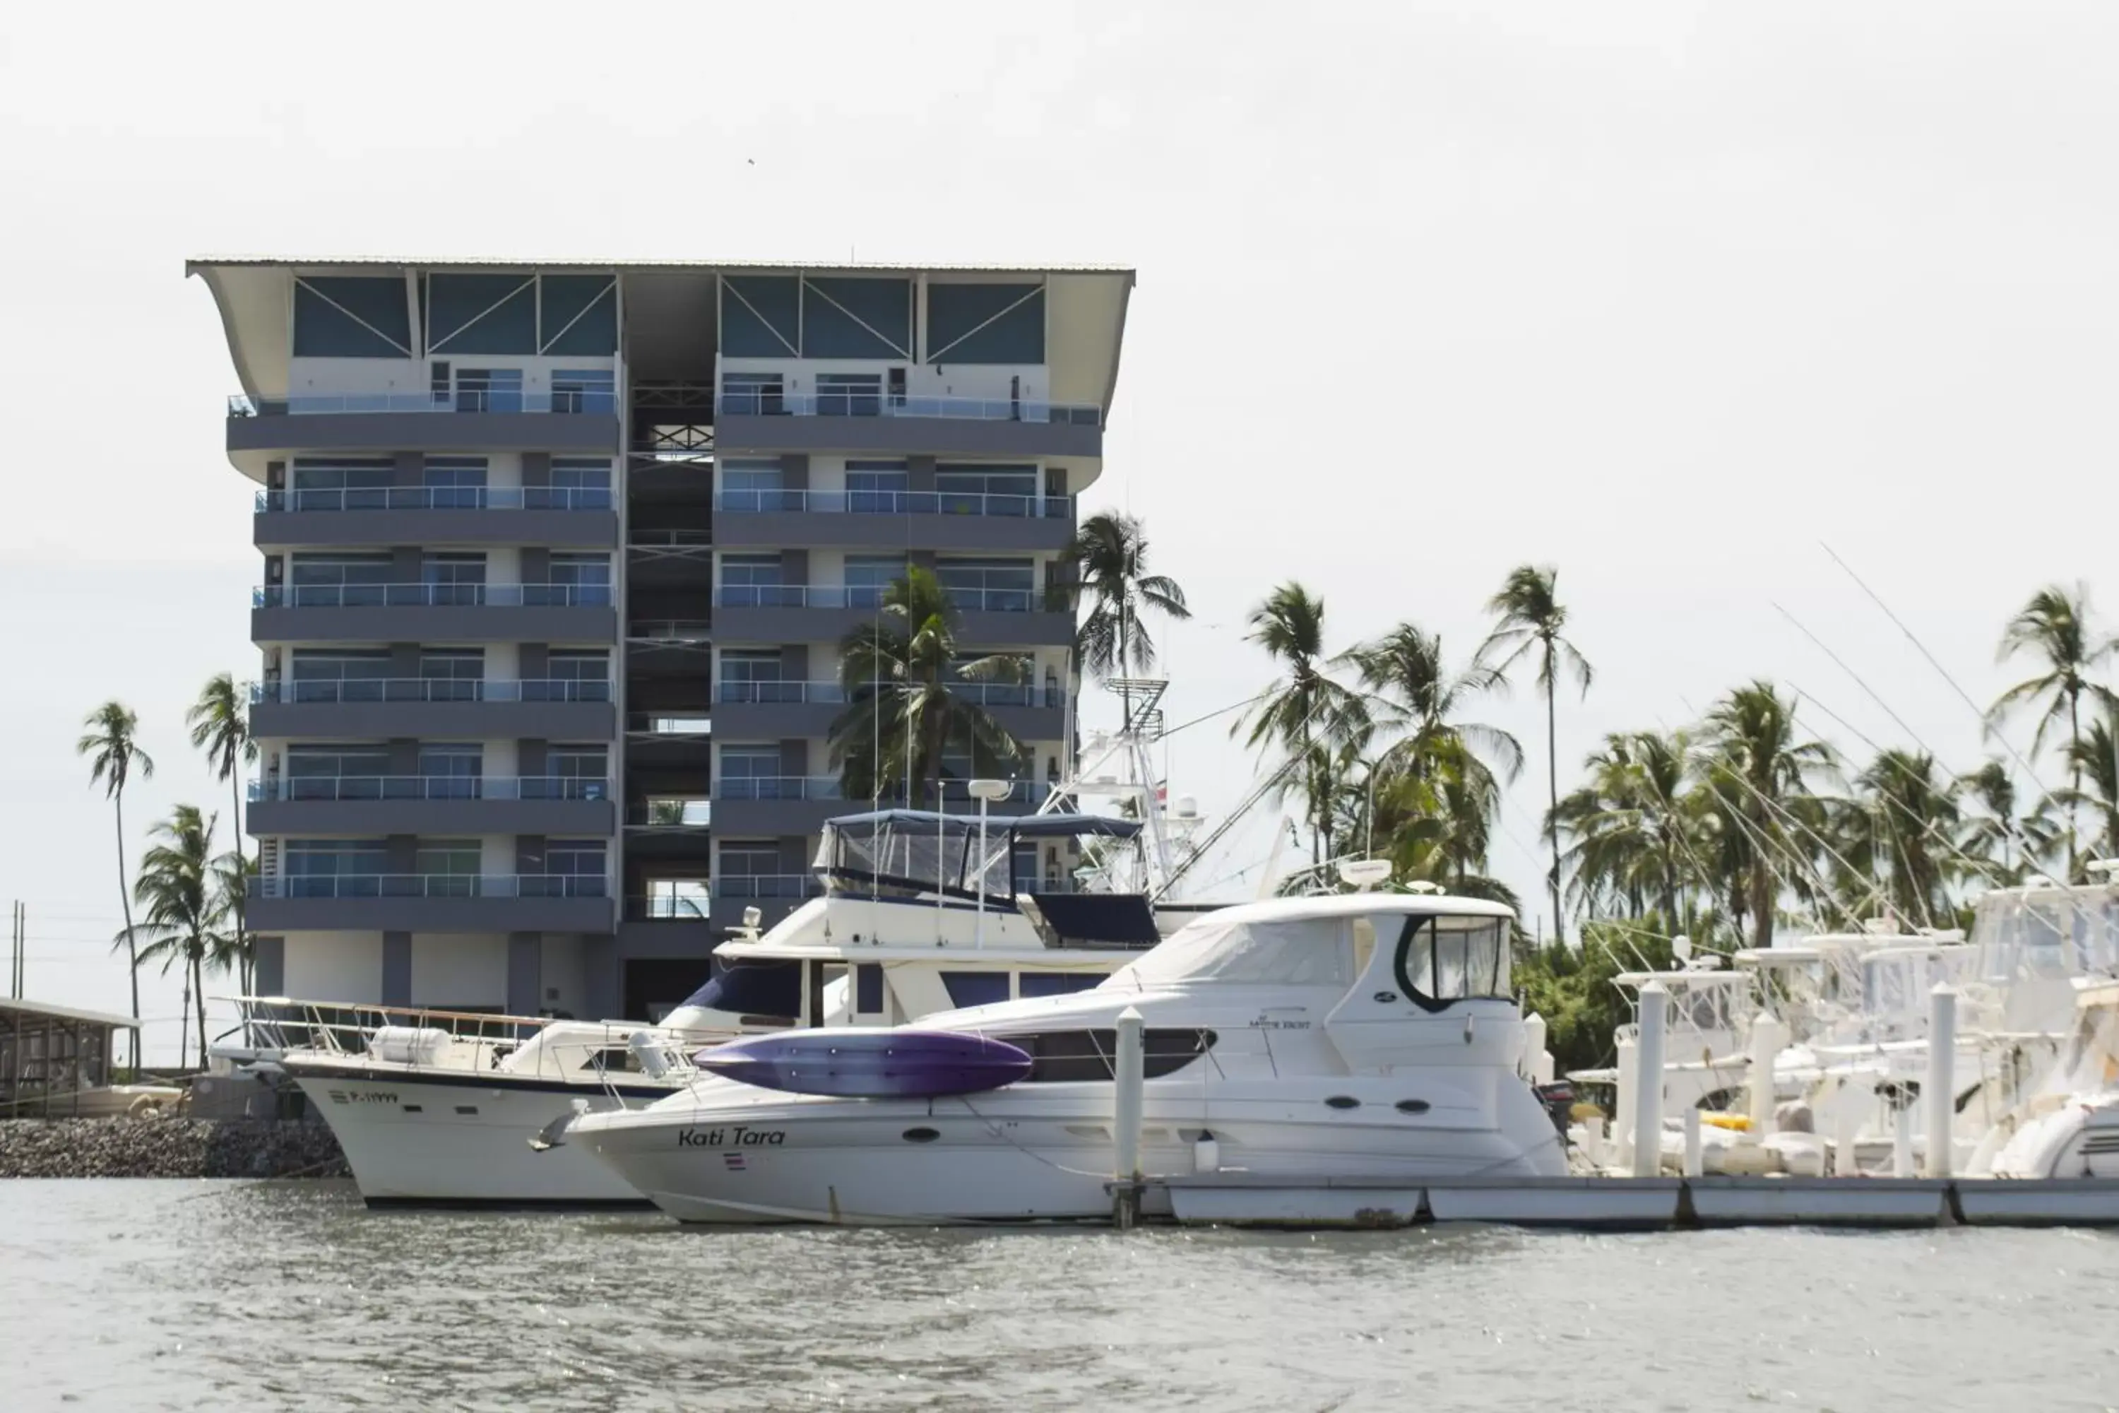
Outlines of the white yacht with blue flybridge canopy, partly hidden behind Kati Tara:
M 638 1203 L 547 1129 L 659 1099 L 693 1076 L 691 1051 L 737 1036 L 1093 987 L 1159 941 L 1155 909 L 1142 892 L 1070 892 L 1051 873 L 1053 892 L 1015 892 L 1030 883 L 1017 860 L 1083 839 L 1108 858 L 1140 833 L 1074 813 L 848 816 L 824 826 L 824 894 L 723 943 L 712 979 L 661 1025 L 252 1000 L 246 1042 L 275 1036 L 269 1063 L 331 1123 L 369 1205 Z

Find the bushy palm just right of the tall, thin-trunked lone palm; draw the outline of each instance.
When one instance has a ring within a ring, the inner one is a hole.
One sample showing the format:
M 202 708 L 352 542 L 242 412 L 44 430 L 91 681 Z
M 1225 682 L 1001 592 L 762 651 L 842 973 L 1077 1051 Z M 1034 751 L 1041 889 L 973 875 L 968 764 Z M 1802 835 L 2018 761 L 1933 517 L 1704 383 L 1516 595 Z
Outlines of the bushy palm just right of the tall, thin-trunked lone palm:
M 1574 902 L 1593 917 L 1623 907 L 1642 917 L 1655 898 L 1663 926 L 1687 926 L 1682 892 L 1699 879 L 1699 797 L 1687 792 L 1691 741 L 1685 733 L 1621 731 L 1583 765 L 1589 780 L 1560 801 L 1560 833 Z

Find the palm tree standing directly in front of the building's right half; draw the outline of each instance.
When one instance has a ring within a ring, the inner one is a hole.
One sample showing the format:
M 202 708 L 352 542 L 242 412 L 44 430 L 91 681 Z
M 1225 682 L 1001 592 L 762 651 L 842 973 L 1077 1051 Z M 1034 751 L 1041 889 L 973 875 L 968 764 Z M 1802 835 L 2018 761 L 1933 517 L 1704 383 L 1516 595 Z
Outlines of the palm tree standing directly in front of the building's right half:
M 941 794 L 943 756 L 962 752 L 973 773 L 1019 767 L 1023 748 L 962 682 L 1019 682 L 1013 655 L 958 657 L 958 612 L 932 570 L 913 566 L 884 589 L 875 623 L 839 642 L 848 708 L 831 722 L 831 758 L 848 799 L 888 794 L 898 763 L 915 809 Z

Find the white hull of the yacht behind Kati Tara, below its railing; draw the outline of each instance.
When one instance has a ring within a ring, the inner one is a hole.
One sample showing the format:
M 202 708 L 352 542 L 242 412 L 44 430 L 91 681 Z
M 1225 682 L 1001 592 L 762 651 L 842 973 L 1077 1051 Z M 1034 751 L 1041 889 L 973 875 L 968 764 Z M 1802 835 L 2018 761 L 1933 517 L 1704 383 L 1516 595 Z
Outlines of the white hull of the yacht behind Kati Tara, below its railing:
M 437 1074 L 295 1074 L 331 1125 L 360 1197 L 384 1205 L 644 1205 L 608 1165 L 568 1142 L 530 1146 L 587 1102 L 591 1087 L 500 1087 Z M 665 1091 L 657 1091 L 659 1097 Z M 644 1104 L 646 1097 L 634 1097 Z

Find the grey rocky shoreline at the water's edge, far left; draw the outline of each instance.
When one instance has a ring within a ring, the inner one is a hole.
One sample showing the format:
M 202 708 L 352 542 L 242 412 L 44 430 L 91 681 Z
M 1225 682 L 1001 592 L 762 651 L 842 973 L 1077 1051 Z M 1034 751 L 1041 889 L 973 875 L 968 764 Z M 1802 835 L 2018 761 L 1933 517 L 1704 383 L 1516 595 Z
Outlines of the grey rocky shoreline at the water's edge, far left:
M 0 1178 L 348 1178 L 331 1129 L 269 1119 L 6 1119 Z

